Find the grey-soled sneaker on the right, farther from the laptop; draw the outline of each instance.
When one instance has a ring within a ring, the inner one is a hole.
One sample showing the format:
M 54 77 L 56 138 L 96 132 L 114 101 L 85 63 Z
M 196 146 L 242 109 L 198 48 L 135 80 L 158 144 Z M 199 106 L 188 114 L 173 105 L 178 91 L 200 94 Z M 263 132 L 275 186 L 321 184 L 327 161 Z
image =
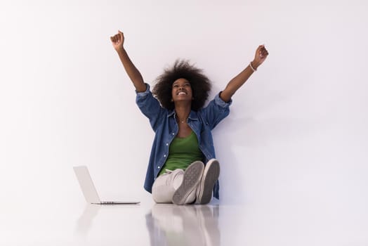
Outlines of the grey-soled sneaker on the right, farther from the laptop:
M 217 160 L 214 160 L 207 165 L 209 165 L 209 167 L 204 168 L 204 174 L 201 181 L 200 190 L 202 192 L 199 193 L 196 202 L 201 205 L 211 202 L 213 186 L 215 186 L 215 183 L 220 176 L 220 163 Z

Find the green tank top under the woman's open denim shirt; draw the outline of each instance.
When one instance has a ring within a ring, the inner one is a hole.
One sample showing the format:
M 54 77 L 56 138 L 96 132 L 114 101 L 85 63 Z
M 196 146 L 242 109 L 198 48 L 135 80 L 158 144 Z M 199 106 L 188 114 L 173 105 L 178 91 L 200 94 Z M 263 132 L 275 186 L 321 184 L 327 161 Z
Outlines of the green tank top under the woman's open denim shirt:
M 203 161 L 203 153 L 199 150 L 198 139 L 195 132 L 185 138 L 173 138 L 169 146 L 169 156 L 159 171 L 159 175 L 164 174 L 166 169 L 171 171 L 175 169 L 185 170 L 192 162 L 196 160 Z

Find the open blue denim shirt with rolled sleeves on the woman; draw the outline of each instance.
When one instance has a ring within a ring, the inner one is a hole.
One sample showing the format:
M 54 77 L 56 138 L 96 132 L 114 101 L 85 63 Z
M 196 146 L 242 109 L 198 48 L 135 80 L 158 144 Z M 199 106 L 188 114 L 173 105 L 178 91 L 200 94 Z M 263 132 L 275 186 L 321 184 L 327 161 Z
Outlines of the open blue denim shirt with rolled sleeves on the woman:
M 145 190 L 152 193 L 152 185 L 169 155 L 170 143 L 178 134 L 178 124 L 175 110 L 162 108 L 159 101 L 152 95 L 150 85 L 146 85 L 146 91 L 136 92 L 136 103 L 143 115 L 150 119 L 151 127 L 155 131 L 144 184 Z M 190 112 L 187 123 L 197 136 L 199 149 L 205 157 L 204 163 L 216 157 L 211 130 L 229 115 L 231 103 L 232 101 L 225 103 L 218 93 L 205 108 Z M 218 190 L 217 181 L 213 187 L 213 196 L 217 199 Z

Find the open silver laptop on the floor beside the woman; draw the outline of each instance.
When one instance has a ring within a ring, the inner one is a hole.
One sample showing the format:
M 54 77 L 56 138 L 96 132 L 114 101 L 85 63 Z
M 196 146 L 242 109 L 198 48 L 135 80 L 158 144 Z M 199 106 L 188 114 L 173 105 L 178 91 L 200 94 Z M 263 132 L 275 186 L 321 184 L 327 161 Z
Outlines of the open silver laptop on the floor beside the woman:
M 97 190 L 93 181 L 91 179 L 91 175 L 89 175 L 89 171 L 86 166 L 78 166 L 73 167 L 75 175 L 77 175 L 77 179 L 79 181 L 79 186 L 81 186 L 81 191 L 83 192 L 84 198 L 86 201 L 91 204 L 99 204 L 99 205 L 115 205 L 115 204 L 139 204 L 138 201 L 101 201 L 98 196 Z

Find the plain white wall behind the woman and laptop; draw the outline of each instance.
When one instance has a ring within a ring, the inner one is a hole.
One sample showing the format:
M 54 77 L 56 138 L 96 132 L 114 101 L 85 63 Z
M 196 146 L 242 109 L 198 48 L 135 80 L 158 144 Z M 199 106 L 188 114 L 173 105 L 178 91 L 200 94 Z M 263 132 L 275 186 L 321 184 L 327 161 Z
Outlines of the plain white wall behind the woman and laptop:
M 110 43 L 118 29 L 146 82 L 190 59 L 211 98 L 265 44 L 270 56 L 213 130 L 220 204 L 367 221 L 367 13 L 358 0 L 1 1 L 2 221 L 73 211 L 81 164 L 103 198 L 152 202 L 153 132 Z

